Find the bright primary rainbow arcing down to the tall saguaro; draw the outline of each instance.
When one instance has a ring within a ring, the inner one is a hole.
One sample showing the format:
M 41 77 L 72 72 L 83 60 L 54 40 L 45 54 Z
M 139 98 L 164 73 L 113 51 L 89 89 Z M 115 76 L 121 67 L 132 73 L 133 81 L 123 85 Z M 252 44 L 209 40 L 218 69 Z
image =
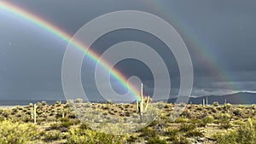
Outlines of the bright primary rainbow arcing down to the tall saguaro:
M 52 33 L 56 37 L 61 37 L 63 40 L 65 40 L 67 42 L 70 42 L 70 40 L 72 39 L 72 36 L 68 35 L 67 32 L 64 32 L 57 26 L 54 26 L 54 25 L 50 24 L 48 21 L 41 19 L 37 15 L 29 13 L 28 11 L 26 11 L 24 9 L 20 9 L 19 7 L 15 6 L 13 4 L 1 1 L 0 9 L 4 9 L 11 14 L 15 14 L 25 20 L 28 20 L 28 21 L 32 22 L 33 24 L 39 26 L 40 28 L 44 29 L 45 31 Z M 132 85 L 126 84 L 125 76 L 122 75 L 122 73 L 118 72 L 117 70 L 113 69 L 108 64 L 108 61 L 100 60 L 100 55 L 97 55 L 96 52 L 92 51 L 91 49 L 88 49 L 87 51 L 84 50 L 84 45 L 80 44 L 79 42 L 76 42 L 75 40 L 73 40 L 73 42 L 71 44 L 73 44 L 73 46 L 75 46 L 75 48 L 81 50 L 85 55 L 89 56 L 91 60 L 98 62 L 98 64 L 100 66 L 102 66 L 106 70 L 108 70 L 108 72 L 110 72 L 110 74 L 111 74 L 111 76 L 113 76 L 113 78 L 117 79 L 119 81 L 119 83 L 122 84 L 122 86 L 125 89 L 129 89 L 131 91 L 131 94 L 134 95 L 137 100 L 140 100 L 139 96 L 137 95 L 137 90 L 135 88 L 133 88 Z

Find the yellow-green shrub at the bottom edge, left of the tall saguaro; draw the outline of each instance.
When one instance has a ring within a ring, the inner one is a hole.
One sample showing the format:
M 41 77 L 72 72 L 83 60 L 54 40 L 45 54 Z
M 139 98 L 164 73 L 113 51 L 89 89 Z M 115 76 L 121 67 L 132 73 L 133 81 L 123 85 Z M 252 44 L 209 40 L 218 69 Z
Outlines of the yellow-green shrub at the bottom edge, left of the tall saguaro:
M 123 144 L 125 137 L 123 135 L 110 135 L 99 133 L 93 130 L 69 130 L 67 134 L 67 144 Z

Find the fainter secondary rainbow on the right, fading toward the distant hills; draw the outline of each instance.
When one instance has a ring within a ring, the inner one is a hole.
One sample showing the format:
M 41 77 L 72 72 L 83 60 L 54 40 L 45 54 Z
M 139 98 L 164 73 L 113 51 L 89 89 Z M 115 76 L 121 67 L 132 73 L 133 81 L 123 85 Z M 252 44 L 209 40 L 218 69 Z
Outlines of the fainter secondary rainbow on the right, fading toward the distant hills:
M 170 8 L 166 7 L 165 3 L 162 3 L 160 1 L 147 1 L 146 3 L 143 4 L 148 4 L 148 7 L 153 9 L 155 12 L 160 13 L 160 15 L 170 18 L 173 22 L 174 26 L 177 26 L 179 29 L 183 30 L 185 33 L 186 37 L 189 37 L 189 42 L 190 44 L 193 44 L 196 54 L 201 54 L 203 57 L 204 65 L 207 66 L 209 69 L 211 69 L 211 72 L 213 75 L 218 76 L 218 80 L 220 81 L 225 81 L 229 82 L 234 78 L 234 76 L 230 75 L 228 72 L 226 72 L 227 68 L 224 66 L 223 61 L 219 61 L 218 57 L 214 57 L 212 55 L 212 49 L 211 45 L 204 42 L 202 40 L 202 37 L 198 37 L 196 32 L 193 30 L 193 28 L 189 28 L 189 23 L 184 23 L 182 21 L 182 16 L 179 16 L 175 10 L 172 10 L 172 13 L 170 13 Z M 168 9 L 168 11 L 167 11 Z M 236 77 L 236 76 L 235 76 Z M 230 94 L 231 93 L 236 93 L 236 92 L 244 92 L 244 91 L 249 91 L 249 90 L 243 90 L 243 86 L 239 84 L 233 84 L 233 83 L 227 83 L 224 85 L 224 89 L 230 89 Z M 240 90 L 236 90 L 240 89 Z M 242 97 L 239 98 L 239 100 L 236 101 L 241 101 L 245 102 L 248 100 L 244 100 Z

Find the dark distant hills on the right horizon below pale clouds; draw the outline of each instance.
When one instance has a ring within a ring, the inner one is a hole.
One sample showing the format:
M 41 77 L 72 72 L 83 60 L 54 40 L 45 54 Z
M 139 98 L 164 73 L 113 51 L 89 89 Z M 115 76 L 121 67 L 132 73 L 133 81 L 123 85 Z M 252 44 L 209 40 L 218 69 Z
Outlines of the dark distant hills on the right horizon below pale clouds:
M 256 93 L 240 92 L 231 95 L 210 95 L 210 96 L 199 96 L 190 97 L 190 101 L 193 104 L 201 104 L 202 99 L 208 99 L 208 104 L 212 104 L 214 101 L 218 101 L 219 104 L 224 104 L 225 100 L 230 104 L 255 104 L 256 103 Z M 174 103 L 177 98 L 169 99 L 168 102 Z

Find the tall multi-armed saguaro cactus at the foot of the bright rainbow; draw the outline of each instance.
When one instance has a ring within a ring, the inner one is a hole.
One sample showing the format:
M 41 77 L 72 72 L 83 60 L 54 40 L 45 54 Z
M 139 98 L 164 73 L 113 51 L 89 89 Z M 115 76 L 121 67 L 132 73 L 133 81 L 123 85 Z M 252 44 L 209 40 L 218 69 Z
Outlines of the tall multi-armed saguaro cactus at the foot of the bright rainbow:
M 146 98 L 146 103 L 144 101 L 144 97 L 143 97 L 143 84 L 141 85 L 141 94 L 140 94 L 140 100 L 137 100 L 137 112 L 140 114 L 140 119 L 141 121 L 143 121 L 143 112 L 147 112 L 148 109 L 148 103 L 149 103 L 149 99 L 150 97 L 148 96 Z

